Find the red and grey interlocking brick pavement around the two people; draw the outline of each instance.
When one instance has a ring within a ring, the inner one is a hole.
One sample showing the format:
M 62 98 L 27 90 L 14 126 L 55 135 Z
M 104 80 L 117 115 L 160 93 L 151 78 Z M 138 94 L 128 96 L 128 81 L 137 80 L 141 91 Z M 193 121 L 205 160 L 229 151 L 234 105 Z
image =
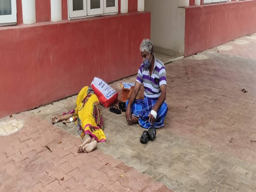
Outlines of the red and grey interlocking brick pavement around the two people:
M 76 154 L 74 124 L 50 124 L 76 96 L 3 119 L 0 134 L 12 134 L 0 140 L 0 189 L 255 191 L 255 49 L 253 34 L 167 64 L 169 112 L 146 145 L 142 128 L 102 107 L 107 142 Z M 120 90 L 119 81 L 112 86 Z

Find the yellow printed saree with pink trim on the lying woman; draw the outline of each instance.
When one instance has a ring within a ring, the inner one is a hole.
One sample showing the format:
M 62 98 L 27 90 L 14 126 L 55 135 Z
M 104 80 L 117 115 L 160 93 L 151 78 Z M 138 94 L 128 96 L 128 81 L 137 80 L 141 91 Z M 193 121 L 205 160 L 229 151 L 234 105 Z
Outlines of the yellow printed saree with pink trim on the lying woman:
M 93 90 L 85 86 L 76 98 L 73 119 L 77 124 L 78 133 L 83 139 L 85 134 L 94 137 L 97 142 L 105 142 L 103 119 L 98 97 Z

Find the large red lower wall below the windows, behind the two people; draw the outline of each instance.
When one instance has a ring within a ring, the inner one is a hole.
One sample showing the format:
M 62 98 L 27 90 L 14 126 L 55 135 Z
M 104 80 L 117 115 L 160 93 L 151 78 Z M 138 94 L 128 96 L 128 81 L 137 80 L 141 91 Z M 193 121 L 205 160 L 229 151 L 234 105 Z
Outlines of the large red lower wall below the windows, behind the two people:
M 137 73 L 150 13 L 0 28 L 0 118 Z

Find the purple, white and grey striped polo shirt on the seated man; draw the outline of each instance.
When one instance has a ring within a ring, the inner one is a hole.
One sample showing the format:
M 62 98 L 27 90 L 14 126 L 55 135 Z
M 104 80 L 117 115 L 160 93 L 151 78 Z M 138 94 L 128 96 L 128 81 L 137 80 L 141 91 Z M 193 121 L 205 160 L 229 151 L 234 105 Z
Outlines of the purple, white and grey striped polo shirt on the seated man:
M 157 100 L 161 95 L 160 86 L 166 85 L 166 71 L 164 64 L 155 58 L 154 69 L 152 75 L 149 74 L 149 69 L 144 67 L 144 64 L 140 65 L 137 82 L 144 84 L 144 96 Z

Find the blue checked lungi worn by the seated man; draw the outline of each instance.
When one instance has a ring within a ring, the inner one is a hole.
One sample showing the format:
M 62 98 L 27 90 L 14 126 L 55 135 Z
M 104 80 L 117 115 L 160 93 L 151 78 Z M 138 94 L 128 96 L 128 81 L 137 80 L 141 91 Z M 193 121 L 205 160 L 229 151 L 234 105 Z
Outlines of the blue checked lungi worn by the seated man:
M 126 101 L 126 106 L 128 105 L 129 100 Z M 131 107 L 131 114 L 135 117 L 139 117 L 139 124 L 145 129 L 151 127 L 149 120 L 149 114 L 152 108 L 155 106 L 157 100 L 152 100 L 149 97 L 145 97 L 144 100 L 135 100 Z M 164 126 L 164 119 L 168 111 L 168 106 L 164 102 L 159 110 L 157 111 L 157 116 L 155 119 L 154 126 L 155 128 L 160 128 Z

